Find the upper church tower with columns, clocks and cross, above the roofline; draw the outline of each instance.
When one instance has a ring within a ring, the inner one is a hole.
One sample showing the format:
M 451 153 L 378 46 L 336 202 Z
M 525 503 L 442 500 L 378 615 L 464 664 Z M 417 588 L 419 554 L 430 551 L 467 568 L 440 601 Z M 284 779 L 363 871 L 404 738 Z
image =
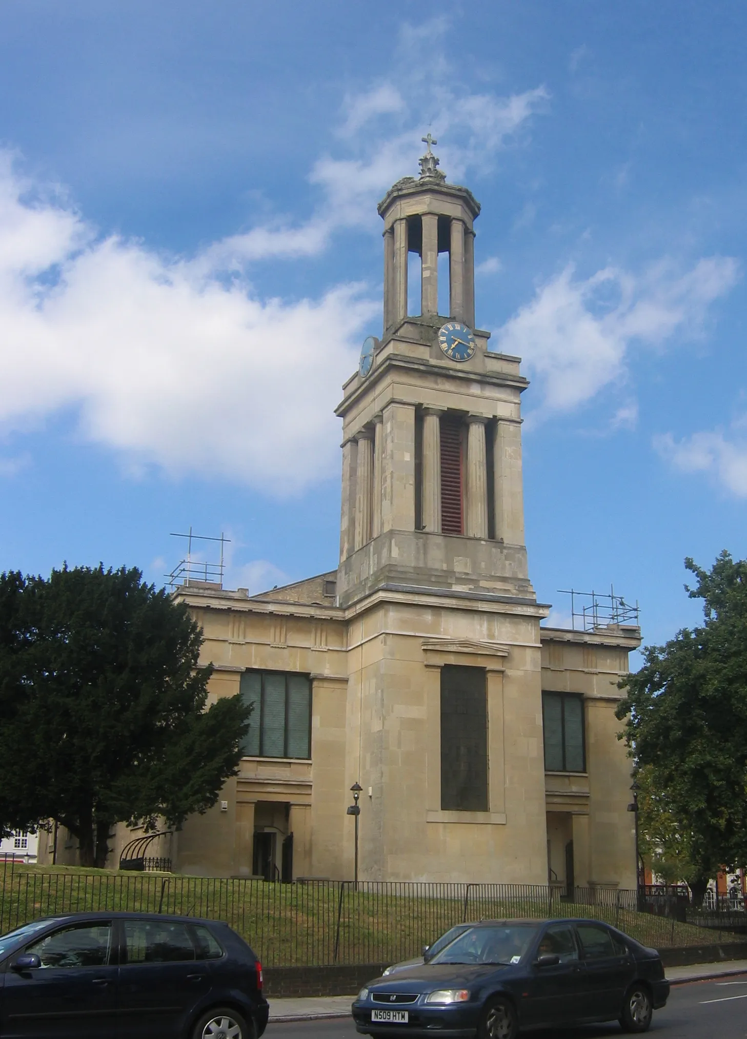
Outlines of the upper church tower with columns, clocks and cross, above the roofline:
M 519 358 L 475 328 L 480 205 L 438 169 L 430 134 L 419 178 L 386 192 L 381 339 L 344 385 L 338 593 L 377 589 L 534 602 L 527 575 Z M 439 254 L 448 313 L 438 313 Z M 412 256 L 413 262 L 409 259 Z M 420 274 L 420 313 L 408 276 Z M 410 309 L 415 304 L 410 302 Z

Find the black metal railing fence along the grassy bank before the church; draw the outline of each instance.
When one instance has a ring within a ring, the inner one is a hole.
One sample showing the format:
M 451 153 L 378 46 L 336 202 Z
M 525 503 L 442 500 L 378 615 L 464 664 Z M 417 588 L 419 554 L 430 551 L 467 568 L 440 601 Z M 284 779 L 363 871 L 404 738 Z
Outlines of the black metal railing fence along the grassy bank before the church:
M 651 911 L 634 890 L 577 887 L 568 898 L 564 889 L 532 884 L 282 884 L 0 861 L 0 934 L 41 916 L 91 910 L 223 920 L 266 966 L 396 962 L 454 924 L 516 916 L 590 916 L 655 948 L 717 940 L 714 931 Z

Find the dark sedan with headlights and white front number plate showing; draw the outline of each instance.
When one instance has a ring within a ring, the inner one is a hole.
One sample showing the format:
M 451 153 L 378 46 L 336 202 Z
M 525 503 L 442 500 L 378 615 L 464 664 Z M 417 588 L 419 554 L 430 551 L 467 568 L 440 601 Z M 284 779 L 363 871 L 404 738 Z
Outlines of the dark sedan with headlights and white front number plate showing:
M 612 1020 L 645 1032 L 668 995 L 659 953 L 607 924 L 483 921 L 428 963 L 370 982 L 352 1014 L 370 1036 L 514 1039 Z

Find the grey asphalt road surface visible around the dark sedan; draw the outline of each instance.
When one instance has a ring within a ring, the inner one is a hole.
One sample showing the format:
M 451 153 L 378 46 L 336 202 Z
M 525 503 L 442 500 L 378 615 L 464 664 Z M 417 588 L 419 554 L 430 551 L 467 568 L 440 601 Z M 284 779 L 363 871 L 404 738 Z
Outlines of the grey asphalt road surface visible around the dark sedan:
M 353 1039 L 352 1020 L 270 1024 L 267 1039 Z M 533 1039 L 603 1039 L 621 1035 L 616 1023 L 533 1032 Z M 747 1039 L 747 974 L 723 981 L 675 985 L 664 1010 L 657 1010 L 648 1035 L 658 1039 Z

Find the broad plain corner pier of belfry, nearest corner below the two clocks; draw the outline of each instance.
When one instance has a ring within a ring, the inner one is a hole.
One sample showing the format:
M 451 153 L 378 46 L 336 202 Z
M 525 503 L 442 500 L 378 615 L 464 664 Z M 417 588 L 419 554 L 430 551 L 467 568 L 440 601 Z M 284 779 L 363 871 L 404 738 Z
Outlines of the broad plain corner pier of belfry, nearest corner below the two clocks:
M 381 530 L 415 530 L 415 405 L 383 411 Z

